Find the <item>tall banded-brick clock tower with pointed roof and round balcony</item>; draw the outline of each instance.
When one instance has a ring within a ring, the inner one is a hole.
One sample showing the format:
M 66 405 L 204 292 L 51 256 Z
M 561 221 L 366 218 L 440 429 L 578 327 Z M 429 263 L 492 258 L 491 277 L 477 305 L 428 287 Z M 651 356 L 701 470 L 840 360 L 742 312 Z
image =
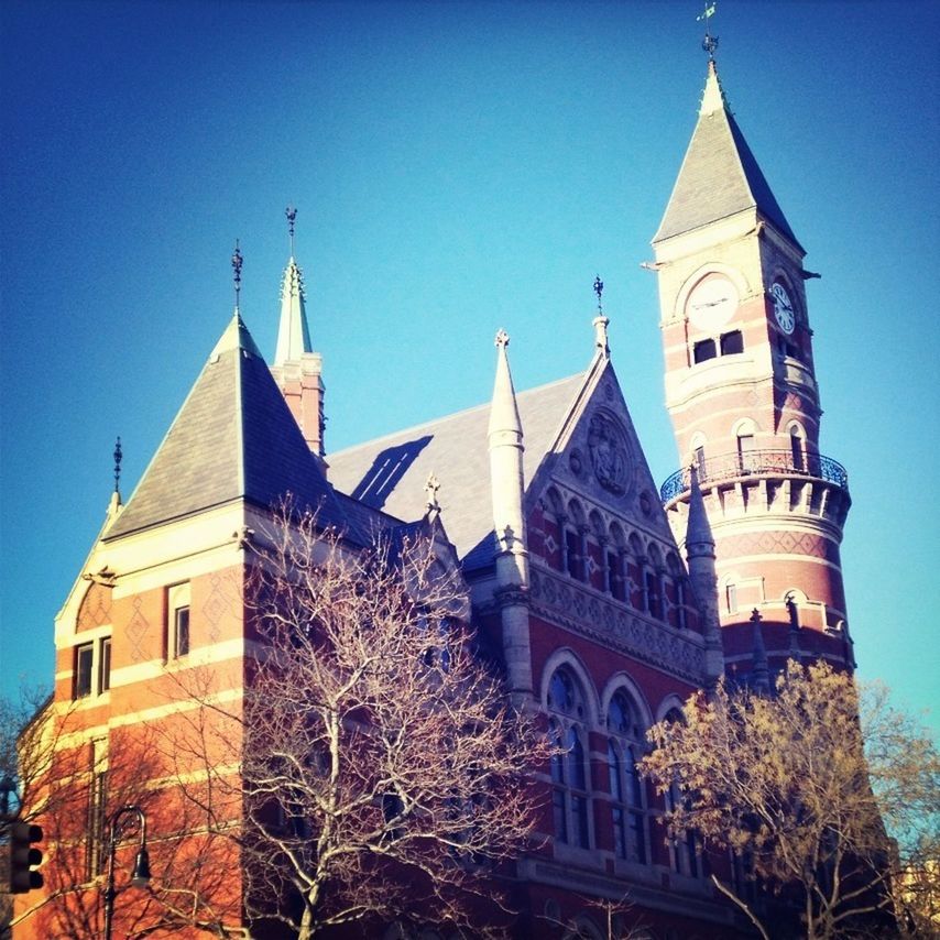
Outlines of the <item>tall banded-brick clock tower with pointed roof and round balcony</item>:
M 851 667 L 839 555 L 851 500 L 844 469 L 819 449 L 806 296 L 816 275 L 713 59 L 653 247 L 681 468 L 662 496 L 681 539 L 696 467 L 729 669 L 751 670 L 755 610 L 772 668 L 819 655 Z

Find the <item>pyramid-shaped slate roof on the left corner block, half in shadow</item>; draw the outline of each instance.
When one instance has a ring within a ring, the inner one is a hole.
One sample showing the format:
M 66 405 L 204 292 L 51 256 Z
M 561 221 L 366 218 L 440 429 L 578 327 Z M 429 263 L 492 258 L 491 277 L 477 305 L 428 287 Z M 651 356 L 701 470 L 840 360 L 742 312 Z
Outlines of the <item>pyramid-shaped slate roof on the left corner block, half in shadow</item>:
M 267 507 L 291 492 L 324 523 L 340 513 L 284 396 L 238 311 L 106 540 L 244 499 Z M 358 534 L 358 533 L 357 533 Z

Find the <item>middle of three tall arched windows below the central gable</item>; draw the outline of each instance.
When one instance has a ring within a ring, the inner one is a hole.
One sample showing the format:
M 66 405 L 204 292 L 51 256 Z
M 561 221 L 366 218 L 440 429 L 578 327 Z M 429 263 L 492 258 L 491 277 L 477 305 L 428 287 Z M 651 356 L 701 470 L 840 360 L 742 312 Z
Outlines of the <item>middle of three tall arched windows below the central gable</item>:
M 636 767 L 642 753 L 643 724 L 638 710 L 623 690 L 608 708 L 608 778 L 614 854 L 630 862 L 647 861 L 646 800 Z

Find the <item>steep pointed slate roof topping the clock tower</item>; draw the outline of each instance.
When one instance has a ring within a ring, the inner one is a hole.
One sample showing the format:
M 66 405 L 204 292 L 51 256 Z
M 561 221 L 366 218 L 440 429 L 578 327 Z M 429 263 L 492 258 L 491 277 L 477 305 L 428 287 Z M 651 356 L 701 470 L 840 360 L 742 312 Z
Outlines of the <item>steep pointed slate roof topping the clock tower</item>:
M 802 250 L 728 110 L 710 62 L 699 120 L 653 243 L 753 208 Z

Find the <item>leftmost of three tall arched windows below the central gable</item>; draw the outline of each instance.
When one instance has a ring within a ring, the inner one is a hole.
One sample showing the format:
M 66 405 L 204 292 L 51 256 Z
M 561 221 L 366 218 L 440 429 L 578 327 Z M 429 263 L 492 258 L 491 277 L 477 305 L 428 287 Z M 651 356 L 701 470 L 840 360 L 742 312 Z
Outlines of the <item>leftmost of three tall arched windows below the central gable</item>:
M 590 849 L 588 765 L 584 752 L 584 699 L 571 671 L 556 669 L 548 684 L 549 734 L 562 753 L 551 758 L 551 810 L 559 842 Z

